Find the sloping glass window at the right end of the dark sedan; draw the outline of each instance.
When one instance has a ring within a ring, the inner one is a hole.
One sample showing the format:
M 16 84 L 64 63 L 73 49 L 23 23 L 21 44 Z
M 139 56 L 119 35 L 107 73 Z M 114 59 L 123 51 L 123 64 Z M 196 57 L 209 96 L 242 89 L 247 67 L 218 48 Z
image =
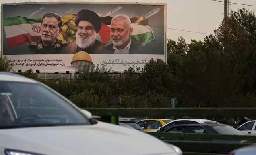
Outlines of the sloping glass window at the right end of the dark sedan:
M 244 135 L 239 130 L 229 126 L 229 125 L 215 125 L 212 126 L 219 134 L 230 134 L 230 135 Z

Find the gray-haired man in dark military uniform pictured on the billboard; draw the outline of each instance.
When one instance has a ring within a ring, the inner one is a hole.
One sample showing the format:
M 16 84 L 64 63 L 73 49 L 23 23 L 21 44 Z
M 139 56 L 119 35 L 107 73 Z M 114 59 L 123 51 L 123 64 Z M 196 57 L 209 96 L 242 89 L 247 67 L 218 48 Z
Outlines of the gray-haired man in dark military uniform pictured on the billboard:
M 28 43 L 31 54 L 66 54 L 64 47 L 68 44 L 57 37 L 62 31 L 60 16 L 54 13 L 46 13 L 41 23 L 41 40 Z

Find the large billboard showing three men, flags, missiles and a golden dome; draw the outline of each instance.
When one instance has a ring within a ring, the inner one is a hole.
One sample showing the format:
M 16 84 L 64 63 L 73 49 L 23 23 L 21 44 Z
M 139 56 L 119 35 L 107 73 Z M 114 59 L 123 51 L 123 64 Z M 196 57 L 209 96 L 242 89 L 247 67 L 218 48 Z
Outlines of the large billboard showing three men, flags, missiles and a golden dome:
M 167 61 L 166 4 L 2 4 L 2 55 L 14 70 L 75 72 L 81 64 L 123 72 Z

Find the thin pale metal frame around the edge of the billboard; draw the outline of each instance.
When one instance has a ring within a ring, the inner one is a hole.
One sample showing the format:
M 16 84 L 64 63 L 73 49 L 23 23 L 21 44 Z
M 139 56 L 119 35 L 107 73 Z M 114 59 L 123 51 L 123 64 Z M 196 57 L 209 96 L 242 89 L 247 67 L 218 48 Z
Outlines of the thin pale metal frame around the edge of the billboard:
M 134 3 L 134 2 L 22 2 L 22 3 L 1 3 L 1 18 L 3 19 L 3 6 L 12 6 L 12 5 L 40 5 L 40 4 L 124 4 L 124 5 L 151 5 L 151 6 L 165 6 L 165 63 L 167 63 L 167 4 L 166 3 Z M 4 24 L 1 23 L 1 39 L 4 38 Z M 4 43 L 1 43 L 1 57 L 3 55 L 3 47 Z M 52 72 L 44 72 L 44 73 L 52 73 Z M 71 72 L 70 72 L 71 73 Z

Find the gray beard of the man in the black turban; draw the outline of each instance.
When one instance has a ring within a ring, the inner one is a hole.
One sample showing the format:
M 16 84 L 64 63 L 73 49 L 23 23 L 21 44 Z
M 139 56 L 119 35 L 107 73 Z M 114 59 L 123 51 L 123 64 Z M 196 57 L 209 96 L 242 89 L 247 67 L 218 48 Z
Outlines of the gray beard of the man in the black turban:
M 89 36 L 88 39 L 81 39 L 78 34 L 76 34 L 76 44 L 78 47 L 82 49 L 86 49 L 88 47 L 91 47 L 95 41 L 96 41 L 97 33 L 95 32 L 92 36 Z

